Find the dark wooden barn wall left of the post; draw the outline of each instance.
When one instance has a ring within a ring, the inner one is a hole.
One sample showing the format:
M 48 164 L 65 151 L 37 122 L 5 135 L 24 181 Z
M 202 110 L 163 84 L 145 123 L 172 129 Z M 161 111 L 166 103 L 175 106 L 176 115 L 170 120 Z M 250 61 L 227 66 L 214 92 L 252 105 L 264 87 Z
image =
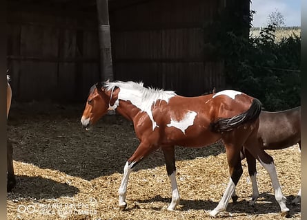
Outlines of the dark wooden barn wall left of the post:
M 8 11 L 14 100 L 83 101 L 99 81 L 97 14 L 35 8 Z

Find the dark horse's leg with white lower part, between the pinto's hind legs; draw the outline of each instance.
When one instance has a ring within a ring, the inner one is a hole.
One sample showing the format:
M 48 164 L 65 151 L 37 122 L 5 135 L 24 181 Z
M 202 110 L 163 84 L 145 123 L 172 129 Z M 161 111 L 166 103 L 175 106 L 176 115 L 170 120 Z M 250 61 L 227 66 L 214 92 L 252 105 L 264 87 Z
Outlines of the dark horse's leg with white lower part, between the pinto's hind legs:
M 245 151 L 246 153 L 246 161 L 248 164 L 248 174 L 250 175 L 250 180 L 252 181 L 252 199 L 250 200 L 250 206 L 253 206 L 256 200 L 259 197 L 259 190 L 257 186 L 257 168 L 256 168 L 256 159 L 252 157 L 248 150 Z

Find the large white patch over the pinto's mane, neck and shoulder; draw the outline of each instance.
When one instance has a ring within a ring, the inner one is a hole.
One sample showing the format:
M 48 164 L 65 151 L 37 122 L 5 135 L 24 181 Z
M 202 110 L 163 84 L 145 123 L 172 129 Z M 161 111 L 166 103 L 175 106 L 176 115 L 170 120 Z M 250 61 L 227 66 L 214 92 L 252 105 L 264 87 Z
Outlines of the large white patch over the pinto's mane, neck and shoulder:
M 119 87 L 120 91 L 118 94 L 118 100 L 115 101 L 115 105 L 112 109 L 116 109 L 119 105 L 119 100 L 130 101 L 135 107 L 139 108 L 141 111 L 145 111 L 150 120 L 152 121 L 152 131 L 157 126 L 152 115 L 152 105 L 156 104 L 157 101 L 162 100 L 168 101 L 170 98 L 177 96 L 175 91 L 164 91 L 163 89 L 153 89 L 143 87 L 143 83 L 129 82 L 112 82 L 106 83 L 105 87 L 108 90 L 115 89 Z

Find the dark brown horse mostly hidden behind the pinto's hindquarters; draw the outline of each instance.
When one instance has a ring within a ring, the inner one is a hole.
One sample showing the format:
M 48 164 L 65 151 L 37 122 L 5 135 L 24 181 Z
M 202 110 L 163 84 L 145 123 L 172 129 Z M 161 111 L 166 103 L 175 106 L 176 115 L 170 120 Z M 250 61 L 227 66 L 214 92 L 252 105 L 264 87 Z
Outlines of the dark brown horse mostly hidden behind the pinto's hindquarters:
M 261 141 L 261 147 L 268 150 L 284 149 L 294 144 L 299 144 L 301 148 L 301 107 L 288 109 L 285 111 L 269 112 L 261 111 L 259 115 L 258 139 Z M 241 159 L 246 156 L 248 162 L 248 173 L 252 181 L 252 199 L 250 205 L 253 205 L 259 197 L 259 191 L 256 181 L 256 161 L 254 157 L 242 152 Z M 232 200 L 236 201 L 235 193 Z M 301 200 L 301 190 L 293 203 L 299 203 Z

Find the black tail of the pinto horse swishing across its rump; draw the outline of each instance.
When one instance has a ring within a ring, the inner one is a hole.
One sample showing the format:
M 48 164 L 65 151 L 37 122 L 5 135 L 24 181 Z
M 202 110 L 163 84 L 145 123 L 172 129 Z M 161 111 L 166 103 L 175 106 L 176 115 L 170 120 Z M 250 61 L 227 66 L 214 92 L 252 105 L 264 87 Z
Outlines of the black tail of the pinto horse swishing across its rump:
M 213 132 L 232 131 L 241 124 L 257 120 L 261 112 L 261 107 L 261 102 L 257 100 L 257 98 L 254 98 L 250 109 L 248 109 L 246 112 L 235 115 L 232 118 L 219 118 L 219 120 L 211 122 L 210 129 Z

